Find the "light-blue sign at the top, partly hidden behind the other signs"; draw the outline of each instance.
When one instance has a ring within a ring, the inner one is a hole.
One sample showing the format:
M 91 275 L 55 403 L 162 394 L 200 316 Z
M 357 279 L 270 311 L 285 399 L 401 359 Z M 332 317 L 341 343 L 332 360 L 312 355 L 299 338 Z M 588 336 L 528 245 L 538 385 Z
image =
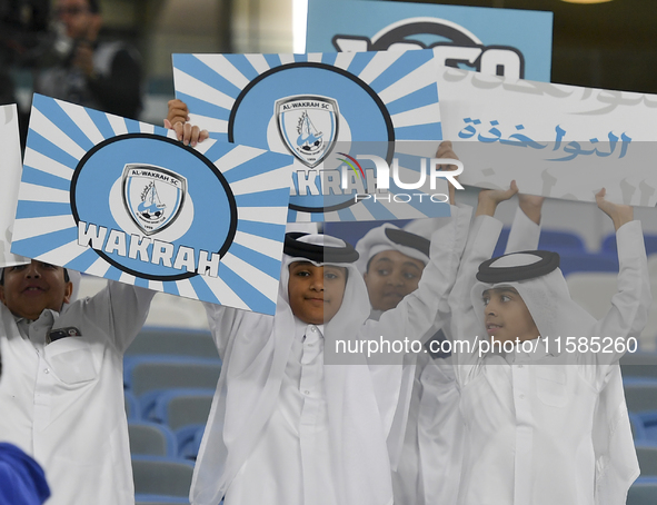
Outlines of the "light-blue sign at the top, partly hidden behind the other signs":
M 442 66 L 549 82 L 551 47 L 551 12 L 308 0 L 308 52 L 436 49 Z

